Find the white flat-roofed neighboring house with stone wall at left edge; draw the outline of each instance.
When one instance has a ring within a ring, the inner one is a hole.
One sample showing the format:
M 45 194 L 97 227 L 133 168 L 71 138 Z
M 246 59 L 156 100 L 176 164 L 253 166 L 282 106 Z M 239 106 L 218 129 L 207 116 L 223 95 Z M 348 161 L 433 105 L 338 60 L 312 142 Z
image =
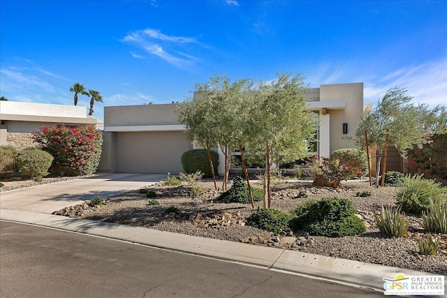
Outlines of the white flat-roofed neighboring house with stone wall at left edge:
M 34 146 L 33 131 L 41 126 L 97 126 L 98 119 L 87 116 L 87 107 L 0 101 L 0 145 L 16 149 Z

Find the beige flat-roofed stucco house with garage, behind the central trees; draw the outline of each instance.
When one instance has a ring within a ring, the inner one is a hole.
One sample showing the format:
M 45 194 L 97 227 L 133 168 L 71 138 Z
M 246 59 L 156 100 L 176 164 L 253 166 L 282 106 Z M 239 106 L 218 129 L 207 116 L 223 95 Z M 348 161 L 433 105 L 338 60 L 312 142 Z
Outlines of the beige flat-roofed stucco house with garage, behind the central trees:
M 363 83 L 324 84 L 306 94 L 307 110 L 320 116 L 314 154 L 356 147 L 354 135 L 365 107 Z M 193 144 L 179 124 L 176 104 L 104 107 L 103 156 L 98 170 L 178 173 L 180 156 Z M 223 154 L 219 173 L 223 173 Z

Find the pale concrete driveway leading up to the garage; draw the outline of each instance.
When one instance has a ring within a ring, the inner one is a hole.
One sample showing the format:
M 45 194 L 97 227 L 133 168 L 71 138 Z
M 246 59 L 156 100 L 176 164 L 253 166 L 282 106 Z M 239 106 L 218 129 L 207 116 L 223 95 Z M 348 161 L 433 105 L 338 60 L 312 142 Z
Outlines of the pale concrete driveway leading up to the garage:
M 96 196 L 108 198 L 165 179 L 166 174 L 96 174 L 87 178 L 3 191 L 0 193 L 0 208 L 51 214 Z

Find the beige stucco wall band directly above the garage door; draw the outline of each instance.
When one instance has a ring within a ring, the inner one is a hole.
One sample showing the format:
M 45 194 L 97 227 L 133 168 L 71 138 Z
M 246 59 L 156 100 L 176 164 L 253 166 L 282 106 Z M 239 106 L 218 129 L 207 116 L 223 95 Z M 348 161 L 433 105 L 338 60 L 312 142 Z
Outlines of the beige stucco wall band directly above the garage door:
M 179 124 L 175 107 L 175 103 L 104 107 L 104 128 Z

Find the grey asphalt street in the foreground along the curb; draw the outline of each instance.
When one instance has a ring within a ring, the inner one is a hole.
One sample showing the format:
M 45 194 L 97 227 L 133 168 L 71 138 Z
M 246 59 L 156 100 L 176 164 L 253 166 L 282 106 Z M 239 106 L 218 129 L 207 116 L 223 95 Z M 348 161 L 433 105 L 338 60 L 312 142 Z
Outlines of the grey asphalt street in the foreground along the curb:
M 0 221 L 0 296 L 383 297 L 124 241 Z

